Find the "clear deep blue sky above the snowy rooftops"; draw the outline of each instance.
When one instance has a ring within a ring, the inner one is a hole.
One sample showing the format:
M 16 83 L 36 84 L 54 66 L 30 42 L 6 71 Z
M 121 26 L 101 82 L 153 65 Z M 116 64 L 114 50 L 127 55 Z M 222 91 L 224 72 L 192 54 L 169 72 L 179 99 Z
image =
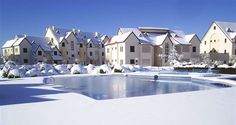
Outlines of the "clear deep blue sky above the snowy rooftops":
M 16 34 L 44 36 L 54 25 L 115 35 L 155 26 L 197 33 L 214 20 L 236 22 L 236 0 L 0 0 L 0 46 Z

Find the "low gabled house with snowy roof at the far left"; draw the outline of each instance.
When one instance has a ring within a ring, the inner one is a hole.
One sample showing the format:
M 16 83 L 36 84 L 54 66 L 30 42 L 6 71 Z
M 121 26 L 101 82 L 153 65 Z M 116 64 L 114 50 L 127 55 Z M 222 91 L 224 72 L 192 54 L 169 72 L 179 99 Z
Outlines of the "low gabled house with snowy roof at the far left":
M 4 61 L 14 60 L 19 64 L 53 61 L 52 49 L 43 37 L 16 35 L 14 39 L 5 42 L 2 50 Z

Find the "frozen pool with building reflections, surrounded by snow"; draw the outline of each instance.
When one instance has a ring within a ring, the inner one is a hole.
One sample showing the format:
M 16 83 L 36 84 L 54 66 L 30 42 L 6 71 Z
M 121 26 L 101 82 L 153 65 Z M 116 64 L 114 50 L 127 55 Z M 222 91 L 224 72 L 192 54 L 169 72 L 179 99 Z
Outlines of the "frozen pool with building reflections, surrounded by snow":
M 124 75 L 56 77 L 54 83 L 61 85 L 60 89 L 96 100 L 229 87 L 220 86 L 220 83 L 191 80 L 190 77 L 158 77 L 158 80 L 154 80 L 153 76 Z

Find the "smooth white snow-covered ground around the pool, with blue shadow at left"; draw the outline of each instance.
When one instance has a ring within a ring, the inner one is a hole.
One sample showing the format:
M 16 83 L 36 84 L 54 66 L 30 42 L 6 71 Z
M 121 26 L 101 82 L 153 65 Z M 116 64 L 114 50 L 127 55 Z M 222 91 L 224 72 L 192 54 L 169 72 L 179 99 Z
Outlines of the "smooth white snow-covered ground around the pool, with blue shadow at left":
M 0 79 L 0 125 L 235 125 L 235 117 L 235 87 L 98 101 L 43 77 Z

